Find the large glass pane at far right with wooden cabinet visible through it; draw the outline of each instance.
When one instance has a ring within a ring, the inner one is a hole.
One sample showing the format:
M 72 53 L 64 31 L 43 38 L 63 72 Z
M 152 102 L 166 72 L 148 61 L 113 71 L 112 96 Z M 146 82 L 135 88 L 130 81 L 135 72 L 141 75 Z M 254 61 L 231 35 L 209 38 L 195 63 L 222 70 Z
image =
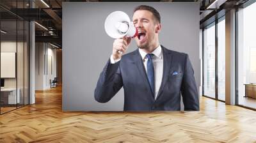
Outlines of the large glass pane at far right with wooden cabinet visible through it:
M 256 3 L 238 11 L 238 104 L 256 109 Z

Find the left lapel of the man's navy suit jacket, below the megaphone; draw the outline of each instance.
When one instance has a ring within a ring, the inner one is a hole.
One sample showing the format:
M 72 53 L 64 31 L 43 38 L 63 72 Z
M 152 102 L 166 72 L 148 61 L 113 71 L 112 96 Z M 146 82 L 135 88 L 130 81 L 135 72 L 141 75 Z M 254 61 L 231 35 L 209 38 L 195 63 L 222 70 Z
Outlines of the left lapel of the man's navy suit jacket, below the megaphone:
M 148 82 L 147 73 L 145 70 L 145 66 L 143 64 L 143 61 L 142 61 L 142 58 L 141 58 L 141 55 L 140 55 L 140 52 L 138 49 L 134 52 L 132 59 L 134 59 L 134 64 L 136 64 L 138 70 L 140 71 L 142 80 L 145 81 L 145 83 L 147 83 L 147 89 L 149 91 L 151 91 L 150 84 Z M 152 93 L 152 91 L 150 93 L 151 93 L 152 98 L 154 99 L 154 94 Z

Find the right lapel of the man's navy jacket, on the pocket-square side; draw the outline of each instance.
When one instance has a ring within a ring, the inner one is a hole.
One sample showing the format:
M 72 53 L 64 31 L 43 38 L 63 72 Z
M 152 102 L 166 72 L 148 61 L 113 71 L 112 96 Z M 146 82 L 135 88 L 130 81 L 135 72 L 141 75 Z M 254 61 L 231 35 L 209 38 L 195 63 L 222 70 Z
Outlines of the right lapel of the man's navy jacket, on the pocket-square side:
M 163 47 L 163 45 L 161 45 L 161 47 L 162 47 L 163 58 L 164 58 L 163 59 L 163 78 L 162 78 L 161 86 L 159 88 L 156 100 L 159 98 L 159 96 L 161 96 L 161 93 L 163 92 L 163 87 L 168 80 L 168 76 L 170 75 L 170 67 L 171 67 L 171 63 L 172 63 L 171 52 L 169 52 L 167 49 L 165 49 Z

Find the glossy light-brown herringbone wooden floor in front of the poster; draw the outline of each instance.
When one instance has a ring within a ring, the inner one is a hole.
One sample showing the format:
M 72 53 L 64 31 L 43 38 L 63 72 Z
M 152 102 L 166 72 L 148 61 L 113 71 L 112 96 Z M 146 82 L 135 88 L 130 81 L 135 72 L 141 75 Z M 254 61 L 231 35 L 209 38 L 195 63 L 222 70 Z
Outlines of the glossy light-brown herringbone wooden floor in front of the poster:
M 61 88 L 0 116 L 0 142 L 256 142 L 256 112 L 200 98 L 200 112 L 62 112 Z

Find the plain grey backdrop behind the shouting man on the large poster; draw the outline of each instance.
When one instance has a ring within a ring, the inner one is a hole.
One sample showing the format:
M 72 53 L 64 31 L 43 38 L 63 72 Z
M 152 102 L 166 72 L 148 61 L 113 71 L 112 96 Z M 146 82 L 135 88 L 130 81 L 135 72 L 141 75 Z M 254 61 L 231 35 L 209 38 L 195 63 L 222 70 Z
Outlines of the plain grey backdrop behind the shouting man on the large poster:
M 121 89 L 108 103 L 94 100 L 100 72 L 111 56 L 113 39 L 104 30 L 112 11 L 121 10 L 132 19 L 132 10 L 147 4 L 161 15 L 159 41 L 164 47 L 189 54 L 200 84 L 199 3 L 63 3 L 63 111 L 123 110 Z M 132 40 L 127 52 L 137 49 Z

